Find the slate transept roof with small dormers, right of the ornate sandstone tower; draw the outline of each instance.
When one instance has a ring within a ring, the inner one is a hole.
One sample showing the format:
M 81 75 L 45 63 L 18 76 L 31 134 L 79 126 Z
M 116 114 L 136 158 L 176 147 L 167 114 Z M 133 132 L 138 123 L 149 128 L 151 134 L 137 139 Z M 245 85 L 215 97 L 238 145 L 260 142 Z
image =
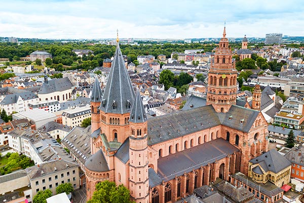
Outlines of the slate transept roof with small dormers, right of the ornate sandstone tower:
M 229 112 L 217 113 L 220 123 L 243 132 L 249 132 L 259 111 L 232 105 Z M 243 120 L 241 122 L 241 120 Z

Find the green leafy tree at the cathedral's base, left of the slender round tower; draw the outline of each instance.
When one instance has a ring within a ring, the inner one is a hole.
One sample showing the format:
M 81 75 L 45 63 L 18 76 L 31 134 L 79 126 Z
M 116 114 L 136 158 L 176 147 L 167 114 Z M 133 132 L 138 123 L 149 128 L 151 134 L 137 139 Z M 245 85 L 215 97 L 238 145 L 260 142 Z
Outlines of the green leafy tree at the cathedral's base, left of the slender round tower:
M 96 184 L 96 190 L 88 203 L 131 203 L 130 191 L 124 185 L 116 186 L 115 182 L 103 181 Z

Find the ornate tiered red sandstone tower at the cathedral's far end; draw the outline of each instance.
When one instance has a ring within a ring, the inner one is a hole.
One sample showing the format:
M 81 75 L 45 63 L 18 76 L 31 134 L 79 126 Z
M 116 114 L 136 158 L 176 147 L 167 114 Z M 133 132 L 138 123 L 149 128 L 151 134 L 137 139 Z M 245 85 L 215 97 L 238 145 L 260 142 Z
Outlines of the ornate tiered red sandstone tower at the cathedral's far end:
M 207 105 L 212 105 L 216 112 L 225 113 L 231 105 L 236 104 L 236 92 L 237 70 L 232 61 L 232 51 L 224 27 L 223 37 L 219 41 L 208 73 Z

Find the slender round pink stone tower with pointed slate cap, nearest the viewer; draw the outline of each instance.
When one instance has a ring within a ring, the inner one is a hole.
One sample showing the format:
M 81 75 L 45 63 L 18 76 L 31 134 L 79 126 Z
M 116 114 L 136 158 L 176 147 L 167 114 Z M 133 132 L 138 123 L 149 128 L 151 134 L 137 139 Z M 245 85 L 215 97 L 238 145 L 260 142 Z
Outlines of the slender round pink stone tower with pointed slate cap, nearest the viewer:
M 137 203 L 149 202 L 147 120 L 137 90 L 130 114 L 129 137 L 129 190 L 131 198 Z

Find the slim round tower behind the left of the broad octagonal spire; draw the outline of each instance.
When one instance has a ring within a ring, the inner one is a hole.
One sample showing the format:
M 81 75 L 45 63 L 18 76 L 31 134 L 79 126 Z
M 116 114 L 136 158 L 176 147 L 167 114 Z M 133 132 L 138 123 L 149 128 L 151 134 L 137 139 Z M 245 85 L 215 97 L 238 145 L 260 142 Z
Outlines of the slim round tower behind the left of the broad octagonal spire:
M 102 99 L 102 91 L 100 87 L 100 83 L 95 78 L 93 90 L 92 90 L 92 96 L 91 96 L 91 129 L 92 132 L 100 128 L 100 113 L 99 113 L 99 107 Z

